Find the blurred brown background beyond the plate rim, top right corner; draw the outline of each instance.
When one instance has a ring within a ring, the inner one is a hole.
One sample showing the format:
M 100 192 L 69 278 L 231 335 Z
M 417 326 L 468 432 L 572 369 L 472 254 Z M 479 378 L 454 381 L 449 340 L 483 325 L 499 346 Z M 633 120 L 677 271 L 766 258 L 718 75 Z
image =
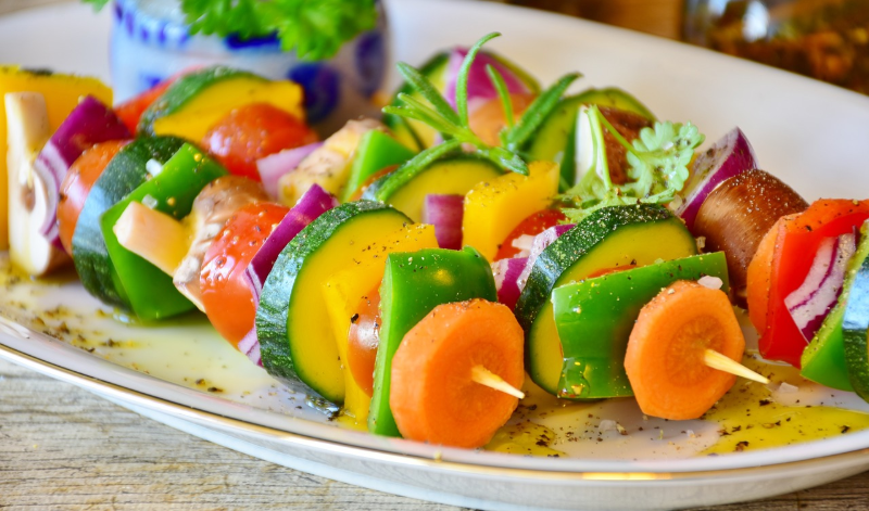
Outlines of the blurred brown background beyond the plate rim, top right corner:
M 869 93 L 869 0 L 489 0 L 681 39 Z

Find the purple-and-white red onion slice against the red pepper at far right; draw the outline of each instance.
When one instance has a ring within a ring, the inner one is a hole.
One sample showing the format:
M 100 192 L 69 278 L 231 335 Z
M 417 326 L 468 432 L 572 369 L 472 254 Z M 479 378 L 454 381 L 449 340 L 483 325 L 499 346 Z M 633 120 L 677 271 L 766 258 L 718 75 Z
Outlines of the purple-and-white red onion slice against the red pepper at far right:
M 815 254 L 806 280 L 784 298 L 806 342 L 811 341 L 839 299 L 848 261 L 856 251 L 854 234 L 826 239 Z

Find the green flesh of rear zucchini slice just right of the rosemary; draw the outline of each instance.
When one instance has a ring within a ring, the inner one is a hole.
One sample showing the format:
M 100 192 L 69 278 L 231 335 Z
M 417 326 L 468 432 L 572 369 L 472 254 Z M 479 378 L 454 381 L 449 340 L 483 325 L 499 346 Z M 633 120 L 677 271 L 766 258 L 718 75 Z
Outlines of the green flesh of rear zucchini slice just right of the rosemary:
M 615 87 L 589 89 L 577 95 L 564 98 L 555 111 L 543 120 L 534 138 L 522 148 L 530 159 L 543 159 L 561 165 L 559 191 L 569 189 L 576 181 L 577 114 L 583 104 L 612 106 L 655 120 L 654 114 L 637 98 Z

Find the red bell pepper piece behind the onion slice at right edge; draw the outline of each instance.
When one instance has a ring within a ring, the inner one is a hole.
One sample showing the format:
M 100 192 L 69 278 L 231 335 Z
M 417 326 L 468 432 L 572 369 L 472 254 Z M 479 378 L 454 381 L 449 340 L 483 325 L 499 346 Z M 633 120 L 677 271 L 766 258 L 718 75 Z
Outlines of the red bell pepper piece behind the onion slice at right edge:
M 796 327 L 784 298 L 806 280 L 811 261 L 827 238 L 859 229 L 869 218 L 869 201 L 820 200 L 792 219 L 784 220 L 772 256 L 766 328 L 758 347 L 770 360 L 801 367 L 809 340 Z

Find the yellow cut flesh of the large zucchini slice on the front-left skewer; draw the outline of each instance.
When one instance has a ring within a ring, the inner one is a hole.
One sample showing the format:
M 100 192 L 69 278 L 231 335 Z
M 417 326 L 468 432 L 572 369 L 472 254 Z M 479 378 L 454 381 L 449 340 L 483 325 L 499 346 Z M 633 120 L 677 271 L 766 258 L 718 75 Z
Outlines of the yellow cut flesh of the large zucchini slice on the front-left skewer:
M 344 399 L 344 375 L 323 288 L 335 273 L 356 266 L 368 246 L 406 222 L 390 209 L 363 213 L 344 221 L 306 258 L 293 285 L 288 330 L 295 369 L 305 381 L 319 382 L 324 396 L 335 403 Z

